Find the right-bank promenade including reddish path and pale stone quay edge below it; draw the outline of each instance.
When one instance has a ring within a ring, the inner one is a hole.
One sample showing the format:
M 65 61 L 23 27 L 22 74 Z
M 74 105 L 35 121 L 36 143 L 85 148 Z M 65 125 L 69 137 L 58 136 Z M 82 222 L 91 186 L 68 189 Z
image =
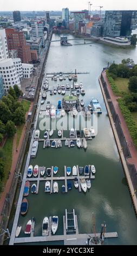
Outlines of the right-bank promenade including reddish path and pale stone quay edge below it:
M 127 125 L 126 125 L 125 120 L 124 120 L 124 118 L 122 116 L 122 113 L 120 111 L 119 104 L 118 104 L 118 101 L 117 101 L 118 97 L 113 94 L 112 88 L 110 87 L 110 84 L 108 82 L 105 71 L 102 72 L 102 76 L 103 76 L 104 81 L 107 84 L 108 93 L 110 95 L 109 101 L 111 101 L 113 103 L 115 112 L 116 112 L 116 114 L 118 114 L 118 117 L 120 119 L 121 129 L 122 129 L 123 135 L 125 136 L 125 139 L 127 141 L 127 145 L 130 145 L 129 146 L 129 153 L 131 154 L 131 157 L 125 159 L 125 156 L 123 154 L 123 148 L 121 147 L 120 139 L 119 139 L 119 136 L 118 136 L 118 132 L 116 130 L 115 123 L 114 123 L 113 117 L 112 117 L 112 113 L 111 113 L 110 108 L 109 108 L 108 99 L 107 99 L 105 90 L 103 88 L 101 77 L 99 77 L 99 83 L 100 83 L 103 99 L 105 101 L 105 105 L 106 105 L 107 112 L 108 112 L 108 117 L 109 117 L 109 120 L 110 120 L 110 124 L 112 126 L 112 130 L 113 130 L 113 134 L 114 134 L 114 137 L 115 137 L 116 145 L 118 147 L 118 151 L 119 151 L 120 159 L 121 159 L 121 162 L 122 162 L 123 170 L 125 172 L 127 184 L 128 184 L 128 187 L 129 187 L 129 191 L 131 193 L 131 198 L 132 198 L 132 202 L 133 202 L 133 205 L 134 205 L 135 214 L 137 215 L 137 198 L 136 198 L 136 192 L 137 191 L 135 190 L 135 186 L 133 184 L 133 177 L 132 177 L 132 175 L 131 175 L 131 173 L 129 172 L 129 169 L 128 169 L 128 163 L 129 164 L 134 164 L 135 168 L 137 169 L 137 157 L 136 157 L 137 156 L 137 150 L 134 147 L 134 144 L 133 144 L 132 138 L 130 136 L 130 133 L 128 131 Z M 137 180 L 137 176 L 134 175 L 134 177 Z

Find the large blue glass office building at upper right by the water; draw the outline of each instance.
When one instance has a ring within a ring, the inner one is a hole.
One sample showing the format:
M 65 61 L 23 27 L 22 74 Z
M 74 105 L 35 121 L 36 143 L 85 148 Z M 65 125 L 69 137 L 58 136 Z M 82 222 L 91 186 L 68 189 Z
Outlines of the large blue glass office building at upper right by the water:
M 137 22 L 137 11 L 106 11 L 105 26 L 103 30 L 104 36 L 131 37 L 132 29 L 135 29 Z

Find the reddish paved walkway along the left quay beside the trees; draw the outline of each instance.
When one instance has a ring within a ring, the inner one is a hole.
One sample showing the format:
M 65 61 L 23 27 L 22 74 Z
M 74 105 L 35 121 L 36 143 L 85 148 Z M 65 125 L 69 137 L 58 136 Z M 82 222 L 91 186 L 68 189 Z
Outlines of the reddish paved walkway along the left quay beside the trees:
M 27 120 L 28 113 L 31 112 L 32 106 L 33 106 L 33 102 L 30 102 L 29 111 L 25 114 L 25 120 Z M 19 156 L 19 153 L 21 151 L 22 142 L 23 142 L 23 139 L 24 139 L 24 136 L 25 136 L 26 127 L 27 127 L 27 121 L 24 124 L 23 130 L 22 130 L 22 135 L 21 135 L 21 138 L 19 140 L 18 148 L 16 148 L 17 133 L 14 136 L 13 149 L 12 149 L 12 166 L 11 166 L 11 170 L 10 170 L 10 176 L 9 176 L 9 179 L 6 181 L 4 191 L 1 194 L 1 199 L 0 199 L 0 223 L 1 223 L 1 220 L 2 220 L 1 212 L 2 212 L 2 209 L 3 209 L 6 193 L 9 193 L 10 186 L 12 184 L 12 179 L 14 177 L 16 164 L 17 164 L 17 161 L 18 161 L 18 156 Z

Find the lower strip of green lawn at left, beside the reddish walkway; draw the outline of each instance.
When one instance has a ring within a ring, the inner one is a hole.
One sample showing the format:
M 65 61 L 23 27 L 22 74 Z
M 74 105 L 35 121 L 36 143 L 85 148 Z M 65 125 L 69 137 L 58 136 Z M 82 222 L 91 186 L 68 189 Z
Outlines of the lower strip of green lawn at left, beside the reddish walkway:
M 5 168 L 4 168 L 5 178 L 4 178 L 4 183 L 6 182 L 8 173 L 11 169 L 13 141 L 14 141 L 14 138 L 6 139 L 5 145 L 3 147 L 4 156 L 5 156 Z

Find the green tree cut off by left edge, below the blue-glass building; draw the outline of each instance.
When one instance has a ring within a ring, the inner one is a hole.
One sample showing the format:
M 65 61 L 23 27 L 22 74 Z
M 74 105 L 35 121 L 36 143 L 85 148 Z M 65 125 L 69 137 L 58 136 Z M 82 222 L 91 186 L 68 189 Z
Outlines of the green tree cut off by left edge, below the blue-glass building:
M 11 118 L 11 112 L 2 100 L 0 101 L 0 118 L 4 124 Z

